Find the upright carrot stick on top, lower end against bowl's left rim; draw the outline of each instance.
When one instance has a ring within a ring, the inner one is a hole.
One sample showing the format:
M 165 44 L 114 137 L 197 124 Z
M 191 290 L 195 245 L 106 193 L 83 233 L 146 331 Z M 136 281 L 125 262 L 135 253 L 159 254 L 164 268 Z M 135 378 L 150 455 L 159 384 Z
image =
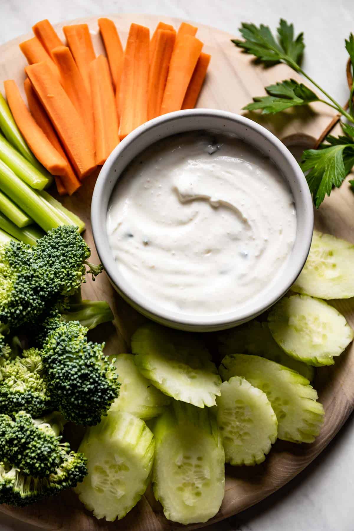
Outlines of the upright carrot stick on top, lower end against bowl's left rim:
M 119 143 L 118 115 L 106 57 L 99 55 L 90 64 L 96 164 L 101 165 Z

